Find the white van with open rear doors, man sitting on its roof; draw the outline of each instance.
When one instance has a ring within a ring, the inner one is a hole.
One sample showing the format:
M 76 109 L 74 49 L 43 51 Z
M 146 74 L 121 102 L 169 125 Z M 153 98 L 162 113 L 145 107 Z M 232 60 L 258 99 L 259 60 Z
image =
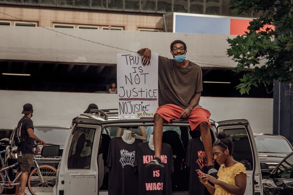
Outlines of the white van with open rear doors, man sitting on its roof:
M 153 118 L 119 117 L 117 109 L 116 111 L 108 109 L 95 109 L 94 111 L 96 113 L 84 113 L 73 119 L 73 127 L 65 143 L 62 159 L 57 169 L 56 185 L 53 188 L 55 195 L 108 194 L 108 169 L 105 162 L 110 140 L 116 137 L 117 129 L 119 127 L 122 129 L 132 127 L 137 130 L 142 126 L 147 129 L 154 125 Z M 234 159 L 242 162 L 246 167 L 247 185 L 245 194 L 263 194 L 260 164 L 249 122 L 245 119 L 220 122 L 210 120 L 210 122 L 212 141 L 216 139 L 215 133 L 217 131 L 225 131 L 234 143 Z M 172 149 L 174 169 L 176 169 L 175 161 L 178 159 L 180 161 L 178 168 L 181 170 L 182 160 L 179 156 L 185 155 L 190 141 L 189 123 L 187 120 L 176 119 L 163 125 L 165 130 L 163 139 L 166 132 L 172 132 L 180 136 L 179 141 L 170 143 L 170 145 L 172 148 L 182 148 L 180 153 L 175 153 Z M 80 141 L 80 138 L 82 138 L 82 141 Z M 82 159 L 82 162 L 72 160 L 72 156 Z M 175 186 L 173 185 L 176 182 L 175 180 L 176 178 L 172 177 L 172 187 Z M 188 188 L 188 179 L 185 182 L 185 186 Z M 188 189 L 180 191 L 178 186 L 175 186 L 172 190 L 173 193 L 178 195 L 188 194 L 186 192 Z

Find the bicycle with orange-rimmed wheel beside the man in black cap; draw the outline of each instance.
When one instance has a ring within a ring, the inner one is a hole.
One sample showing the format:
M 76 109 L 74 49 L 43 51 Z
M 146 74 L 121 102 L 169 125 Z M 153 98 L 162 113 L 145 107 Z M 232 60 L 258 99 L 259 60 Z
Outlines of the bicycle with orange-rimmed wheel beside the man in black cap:
M 35 148 L 38 148 L 38 143 L 36 144 Z M 4 150 L 0 152 L 0 155 L 2 153 L 6 153 L 8 151 Z M 17 175 L 17 177 L 11 181 L 8 175 L 8 169 L 14 168 L 18 166 L 18 163 L 14 163 L 13 165 L 6 166 L 3 158 L 0 158 L 2 169 L 0 170 L 0 195 L 3 193 L 5 188 L 13 188 L 15 185 L 21 185 L 20 182 L 14 183 L 18 177 L 22 174 L 22 172 Z M 56 183 L 56 172 L 57 170 L 50 166 L 50 165 L 38 165 L 35 155 L 33 155 L 33 162 L 35 164 L 35 168 L 33 168 L 29 175 L 28 175 L 28 190 L 32 195 L 37 194 L 46 194 L 46 195 L 53 195 L 53 187 Z M 5 174 L 5 177 L 3 175 L 3 172 Z M 5 178 L 7 181 L 5 181 Z

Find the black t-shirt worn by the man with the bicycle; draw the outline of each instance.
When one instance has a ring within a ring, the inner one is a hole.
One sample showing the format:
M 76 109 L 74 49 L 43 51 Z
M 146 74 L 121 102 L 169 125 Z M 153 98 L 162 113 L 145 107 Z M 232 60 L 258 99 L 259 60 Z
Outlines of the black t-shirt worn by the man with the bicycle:
M 21 146 L 17 147 L 18 152 L 22 152 L 23 154 L 25 153 L 33 153 L 33 146 L 35 144 L 35 140 L 31 139 L 28 137 L 28 129 L 32 128 L 34 129 L 33 126 L 33 121 L 28 117 L 28 116 L 23 116 L 20 121 L 23 121 L 22 126 L 21 126 L 21 137 L 25 137 L 25 143 Z

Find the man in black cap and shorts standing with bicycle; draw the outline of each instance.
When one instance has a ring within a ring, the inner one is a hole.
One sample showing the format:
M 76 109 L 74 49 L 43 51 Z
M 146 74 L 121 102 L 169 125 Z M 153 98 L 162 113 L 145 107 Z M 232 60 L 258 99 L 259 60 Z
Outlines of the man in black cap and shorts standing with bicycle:
M 34 134 L 34 127 L 33 127 L 33 121 L 30 119 L 33 116 L 33 105 L 30 103 L 26 103 L 23 105 L 23 111 L 22 114 L 24 114 L 23 118 L 18 122 L 19 124 L 22 122 L 21 126 L 21 136 L 24 137 L 24 143 L 17 148 L 17 153 L 18 153 L 18 168 L 17 168 L 17 173 L 20 174 L 22 172 L 21 177 L 16 180 L 17 182 L 20 182 L 21 185 L 20 187 L 16 185 L 15 189 L 15 194 L 16 195 L 24 195 L 25 190 L 25 184 L 27 183 L 28 180 L 28 174 L 31 168 L 31 165 L 33 164 L 33 146 L 35 140 L 38 140 L 43 144 L 43 146 L 46 146 L 45 141 L 42 139 L 38 138 Z

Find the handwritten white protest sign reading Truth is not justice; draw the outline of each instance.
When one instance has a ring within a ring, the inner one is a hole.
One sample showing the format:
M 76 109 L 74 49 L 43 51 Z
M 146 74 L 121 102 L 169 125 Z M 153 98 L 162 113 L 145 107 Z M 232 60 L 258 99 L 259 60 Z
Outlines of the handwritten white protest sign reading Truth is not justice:
M 119 116 L 154 117 L 158 108 L 158 54 L 148 66 L 137 53 L 117 54 Z

